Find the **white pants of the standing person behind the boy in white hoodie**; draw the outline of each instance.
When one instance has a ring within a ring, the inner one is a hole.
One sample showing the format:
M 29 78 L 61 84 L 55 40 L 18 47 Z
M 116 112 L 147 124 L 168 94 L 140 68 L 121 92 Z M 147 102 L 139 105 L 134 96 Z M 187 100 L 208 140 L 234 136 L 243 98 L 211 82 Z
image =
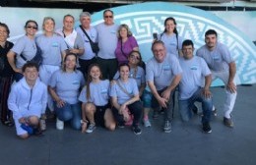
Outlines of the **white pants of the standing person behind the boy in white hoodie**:
M 40 77 L 41 82 L 48 85 L 51 75 L 59 69 L 60 69 L 59 66 L 41 65 L 39 68 L 39 77 Z M 49 93 L 48 93 L 47 105 L 48 105 L 49 110 L 51 112 L 53 112 L 53 110 L 54 110 L 53 99 Z

